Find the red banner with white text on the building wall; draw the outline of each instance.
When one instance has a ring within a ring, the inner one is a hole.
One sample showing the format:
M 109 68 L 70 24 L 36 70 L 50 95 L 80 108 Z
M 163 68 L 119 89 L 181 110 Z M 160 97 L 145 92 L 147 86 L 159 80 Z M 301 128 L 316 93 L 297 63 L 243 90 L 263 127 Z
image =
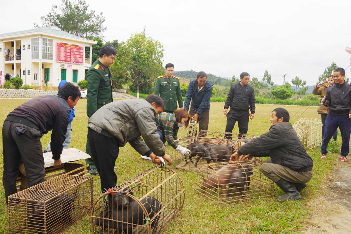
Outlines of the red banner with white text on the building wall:
M 56 61 L 59 63 L 83 64 L 84 47 L 56 43 Z

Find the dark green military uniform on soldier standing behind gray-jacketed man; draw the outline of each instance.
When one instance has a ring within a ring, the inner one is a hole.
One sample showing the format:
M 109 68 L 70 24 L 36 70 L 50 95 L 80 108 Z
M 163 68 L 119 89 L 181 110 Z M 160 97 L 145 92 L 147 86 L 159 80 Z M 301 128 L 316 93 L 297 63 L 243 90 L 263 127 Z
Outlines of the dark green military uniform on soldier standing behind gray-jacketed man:
M 103 65 L 99 59 L 97 59 L 89 68 L 87 72 L 87 115 L 90 118 L 97 110 L 102 106 L 113 102 L 112 99 L 112 85 L 111 85 L 112 74 L 110 69 Z M 87 138 L 87 144 L 85 152 L 91 155 L 90 145 Z M 94 160 L 87 158 L 86 164 L 89 164 L 90 169 L 96 169 Z

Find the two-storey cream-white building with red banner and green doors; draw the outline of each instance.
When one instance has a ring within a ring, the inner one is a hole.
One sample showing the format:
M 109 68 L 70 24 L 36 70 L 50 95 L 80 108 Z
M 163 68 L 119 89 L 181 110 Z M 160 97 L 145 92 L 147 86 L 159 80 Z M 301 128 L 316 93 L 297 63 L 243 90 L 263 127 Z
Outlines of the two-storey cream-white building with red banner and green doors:
M 78 83 L 92 64 L 93 44 L 97 42 L 56 26 L 0 34 L 0 84 L 12 76 L 28 85 L 58 86 L 63 79 Z M 85 58 L 86 47 L 90 47 L 89 58 Z

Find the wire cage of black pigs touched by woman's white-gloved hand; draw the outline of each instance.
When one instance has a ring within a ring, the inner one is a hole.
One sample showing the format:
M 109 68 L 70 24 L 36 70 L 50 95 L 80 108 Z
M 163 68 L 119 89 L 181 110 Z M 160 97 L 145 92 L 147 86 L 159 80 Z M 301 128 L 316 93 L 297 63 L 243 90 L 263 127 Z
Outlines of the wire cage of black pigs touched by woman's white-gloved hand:
M 241 145 L 256 137 L 258 136 L 203 130 L 199 132 L 199 136 L 185 136 L 177 142 L 190 150 L 190 155 L 183 155 L 177 151 L 174 159 L 176 168 L 199 170 L 202 164 L 211 163 L 211 161 L 213 163 L 229 162 L 230 156 L 239 150 Z

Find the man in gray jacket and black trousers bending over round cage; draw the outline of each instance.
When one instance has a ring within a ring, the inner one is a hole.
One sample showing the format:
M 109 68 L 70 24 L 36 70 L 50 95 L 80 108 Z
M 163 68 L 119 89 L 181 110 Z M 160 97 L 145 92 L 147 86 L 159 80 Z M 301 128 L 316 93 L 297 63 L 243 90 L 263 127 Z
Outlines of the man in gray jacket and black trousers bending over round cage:
M 127 142 L 140 155 L 150 157 L 153 163 L 160 164 L 159 157 L 163 157 L 168 165 L 172 164 L 156 132 L 155 118 L 164 109 L 163 99 L 151 94 L 145 100 L 126 99 L 108 103 L 89 118 L 88 139 L 91 156 L 100 175 L 102 193 L 117 184 L 114 165 L 119 147 L 124 147 Z

